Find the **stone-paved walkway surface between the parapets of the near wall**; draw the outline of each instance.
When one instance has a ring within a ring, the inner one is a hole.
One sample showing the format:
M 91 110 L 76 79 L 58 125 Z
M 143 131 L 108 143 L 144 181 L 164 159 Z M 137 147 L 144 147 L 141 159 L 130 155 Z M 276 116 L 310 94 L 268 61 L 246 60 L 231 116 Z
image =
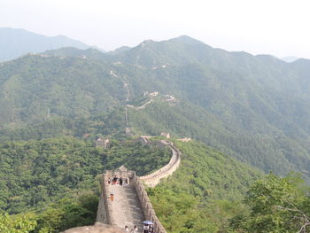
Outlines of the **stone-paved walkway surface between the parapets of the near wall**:
M 113 201 L 108 198 L 112 204 L 112 225 L 124 229 L 128 226 L 129 230 L 135 225 L 138 227 L 138 232 L 142 232 L 143 223 L 145 220 L 142 206 L 136 194 L 136 188 L 133 185 L 120 186 L 106 185 L 107 194 L 113 194 Z

